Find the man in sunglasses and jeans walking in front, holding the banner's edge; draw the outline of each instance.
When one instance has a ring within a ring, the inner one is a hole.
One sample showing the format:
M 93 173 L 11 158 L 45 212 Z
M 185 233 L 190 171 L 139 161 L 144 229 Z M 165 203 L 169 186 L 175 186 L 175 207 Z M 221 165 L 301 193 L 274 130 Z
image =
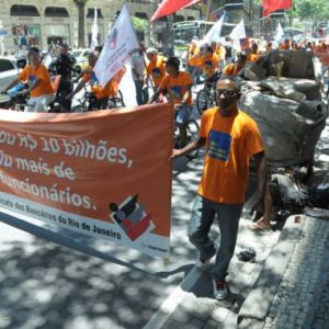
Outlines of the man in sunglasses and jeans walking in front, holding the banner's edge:
M 203 177 L 189 224 L 189 238 L 198 249 L 197 269 L 204 269 L 216 254 L 212 271 L 216 299 L 228 295 L 225 276 L 235 251 L 252 156 L 258 175 L 252 209 L 263 206 L 266 185 L 261 136 L 256 122 L 238 109 L 238 98 L 239 91 L 234 80 L 219 80 L 216 87 L 218 106 L 204 112 L 198 139 L 183 149 L 174 149 L 171 156 L 175 158 L 202 146 L 206 148 Z M 218 250 L 208 236 L 216 215 L 220 230 Z

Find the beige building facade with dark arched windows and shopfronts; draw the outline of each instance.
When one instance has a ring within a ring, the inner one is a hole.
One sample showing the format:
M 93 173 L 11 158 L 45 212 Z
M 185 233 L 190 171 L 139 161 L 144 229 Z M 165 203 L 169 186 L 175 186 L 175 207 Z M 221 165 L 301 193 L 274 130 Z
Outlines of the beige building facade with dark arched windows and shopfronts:
M 157 0 L 127 0 L 132 16 L 150 20 Z M 98 10 L 99 42 L 102 43 L 122 8 L 122 0 L 89 0 L 84 8 L 84 44 L 90 45 L 94 10 Z M 179 11 L 171 19 L 157 20 L 145 31 L 147 44 L 166 42 L 170 21 L 197 20 L 200 7 Z M 47 49 L 50 44 L 78 46 L 78 8 L 73 0 L 2 0 L 0 7 L 2 52 L 36 45 Z

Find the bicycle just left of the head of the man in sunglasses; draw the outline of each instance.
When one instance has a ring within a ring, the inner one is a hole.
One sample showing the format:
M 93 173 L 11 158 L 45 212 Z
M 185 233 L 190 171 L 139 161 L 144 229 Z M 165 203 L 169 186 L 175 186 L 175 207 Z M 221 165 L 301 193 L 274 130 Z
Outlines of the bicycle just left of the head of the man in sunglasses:
M 212 77 L 211 81 L 208 79 L 204 79 L 204 87 L 197 92 L 195 101 L 200 115 L 202 115 L 207 109 L 216 105 L 216 83 L 219 77 L 220 73 L 216 72 L 215 76 Z

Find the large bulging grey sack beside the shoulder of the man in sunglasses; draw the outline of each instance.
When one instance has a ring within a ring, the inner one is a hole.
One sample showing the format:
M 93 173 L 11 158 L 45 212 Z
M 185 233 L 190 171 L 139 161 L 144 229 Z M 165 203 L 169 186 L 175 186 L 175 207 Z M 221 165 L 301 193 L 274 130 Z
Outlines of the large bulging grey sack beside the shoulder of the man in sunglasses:
M 303 164 L 314 157 L 326 125 L 318 107 L 257 90 L 245 90 L 240 109 L 256 120 L 270 164 Z

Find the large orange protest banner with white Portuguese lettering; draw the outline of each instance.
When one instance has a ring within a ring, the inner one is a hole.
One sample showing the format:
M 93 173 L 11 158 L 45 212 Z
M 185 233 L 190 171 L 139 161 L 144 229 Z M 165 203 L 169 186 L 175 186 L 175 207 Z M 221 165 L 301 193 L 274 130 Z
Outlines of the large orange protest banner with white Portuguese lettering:
M 0 110 L 0 211 L 169 252 L 173 111 Z

